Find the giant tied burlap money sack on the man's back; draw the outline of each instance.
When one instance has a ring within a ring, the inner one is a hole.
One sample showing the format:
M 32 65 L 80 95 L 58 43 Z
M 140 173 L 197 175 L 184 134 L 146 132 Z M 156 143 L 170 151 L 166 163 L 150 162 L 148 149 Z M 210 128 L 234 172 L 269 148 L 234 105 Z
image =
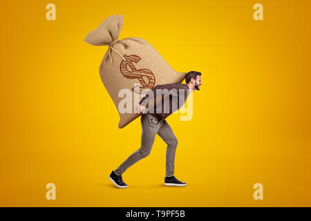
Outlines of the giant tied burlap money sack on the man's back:
M 106 90 L 113 99 L 120 115 L 119 128 L 123 128 L 135 118 L 134 99 L 131 113 L 120 113 L 118 106 L 124 97 L 119 97 L 120 90 L 127 88 L 140 94 L 140 99 L 158 84 L 182 82 L 186 73 L 177 73 L 167 61 L 147 41 L 138 37 L 119 40 L 123 26 L 122 15 L 106 18 L 100 26 L 89 32 L 84 39 L 93 46 L 109 46 L 100 64 L 100 77 Z M 134 88 L 134 84 L 140 84 Z M 138 103 L 137 102 L 137 103 Z

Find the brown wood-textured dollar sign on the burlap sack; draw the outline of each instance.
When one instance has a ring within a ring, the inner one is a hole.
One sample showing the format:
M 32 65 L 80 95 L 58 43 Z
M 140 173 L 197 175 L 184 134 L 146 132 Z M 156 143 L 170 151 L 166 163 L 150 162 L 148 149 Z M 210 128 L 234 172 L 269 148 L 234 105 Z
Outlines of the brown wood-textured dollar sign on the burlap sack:
M 156 77 L 154 77 L 153 73 L 151 72 L 151 70 L 148 69 L 139 69 L 136 70 L 135 66 L 133 65 L 132 62 L 138 63 L 138 61 L 140 61 L 140 57 L 137 55 L 124 55 L 123 56 L 125 58 L 125 61 L 122 60 L 121 64 L 120 64 L 120 71 L 122 73 L 122 75 L 124 75 L 124 77 L 129 78 L 129 79 L 135 79 L 137 78 L 140 81 L 140 84 L 142 84 L 142 86 L 138 87 L 134 87 L 132 88 L 132 90 L 135 93 L 147 93 L 146 89 L 151 89 L 153 88 L 154 84 L 156 84 Z M 126 66 L 129 66 L 131 68 L 131 71 L 127 70 Z M 148 84 L 146 81 L 144 81 L 144 79 L 142 77 L 147 77 L 148 78 Z

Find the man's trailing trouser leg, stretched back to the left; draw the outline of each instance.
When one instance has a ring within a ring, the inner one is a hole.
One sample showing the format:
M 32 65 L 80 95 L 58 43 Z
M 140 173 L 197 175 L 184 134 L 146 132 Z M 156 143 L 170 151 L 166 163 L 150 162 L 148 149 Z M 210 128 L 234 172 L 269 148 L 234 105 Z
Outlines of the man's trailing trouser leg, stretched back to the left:
M 116 175 L 121 175 L 130 166 L 142 160 L 142 158 L 147 157 L 150 154 L 151 148 L 161 126 L 160 122 L 156 122 L 151 115 L 144 114 L 141 119 L 142 124 L 142 138 L 141 147 L 138 151 L 132 153 L 117 169 L 115 169 Z

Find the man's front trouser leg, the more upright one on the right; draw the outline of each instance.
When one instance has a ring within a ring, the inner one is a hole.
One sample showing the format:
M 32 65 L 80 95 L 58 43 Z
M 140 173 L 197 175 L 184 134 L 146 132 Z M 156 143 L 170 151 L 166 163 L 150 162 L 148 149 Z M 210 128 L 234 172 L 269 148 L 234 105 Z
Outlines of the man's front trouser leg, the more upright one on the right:
M 165 119 L 162 120 L 162 126 L 158 131 L 158 135 L 167 144 L 166 176 L 171 177 L 174 175 L 175 153 L 178 140 L 176 139 L 176 136 L 174 135 L 171 126 L 169 126 Z

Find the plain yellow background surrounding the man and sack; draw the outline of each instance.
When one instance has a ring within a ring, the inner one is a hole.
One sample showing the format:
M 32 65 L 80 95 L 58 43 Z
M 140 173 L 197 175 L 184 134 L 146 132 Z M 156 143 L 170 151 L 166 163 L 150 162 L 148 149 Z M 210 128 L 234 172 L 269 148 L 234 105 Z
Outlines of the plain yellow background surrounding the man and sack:
M 202 73 L 193 119 L 167 119 L 185 188 L 163 186 L 158 136 L 124 173 L 128 189 L 108 179 L 141 135 L 140 119 L 117 128 L 99 74 L 108 47 L 84 42 L 110 15 L 124 16 L 119 39 Z M 310 1 L 1 0 L 0 20 L 0 206 L 311 206 Z

